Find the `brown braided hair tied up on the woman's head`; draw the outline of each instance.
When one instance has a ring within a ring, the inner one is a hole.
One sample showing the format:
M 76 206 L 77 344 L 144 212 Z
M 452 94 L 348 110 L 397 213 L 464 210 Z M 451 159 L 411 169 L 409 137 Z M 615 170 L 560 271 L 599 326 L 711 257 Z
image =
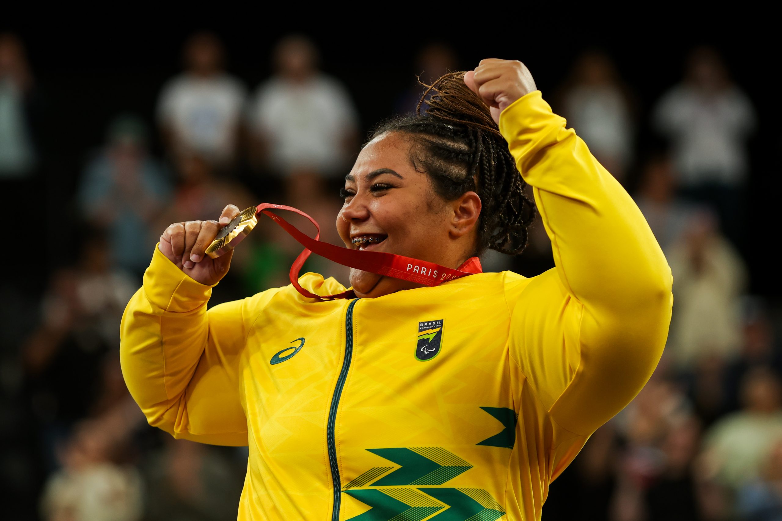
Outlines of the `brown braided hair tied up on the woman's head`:
M 424 86 L 416 112 L 381 123 L 369 141 L 389 132 L 410 137 L 410 160 L 429 175 L 439 197 L 454 201 L 475 191 L 481 199 L 474 255 L 487 248 L 520 255 L 529 242 L 535 203 L 524 192 L 526 183 L 488 105 L 467 87 L 465 73 L 448 73 Z

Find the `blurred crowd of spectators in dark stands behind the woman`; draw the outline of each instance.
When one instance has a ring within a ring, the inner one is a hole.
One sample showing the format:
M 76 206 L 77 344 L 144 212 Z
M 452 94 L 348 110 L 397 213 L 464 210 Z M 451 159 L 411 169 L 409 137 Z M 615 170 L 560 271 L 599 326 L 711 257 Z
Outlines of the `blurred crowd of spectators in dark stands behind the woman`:
M 120 372 L 120 316 L 157 237 L 228 203 L 280 202 L 339 244 L 339 187 L 368 129 L 415 109 L 417 75 L 495 56 L 528 64 L 633 195 L 674 277 L 660 366 L 552 484 L 543 519 L 782 519 L 782 132 L 748 48 L 670 35 L 643 51 L 587 34 L 545 48 L 453 35 L 377 47 L 387 35 L 371 31 L 69 36 L 0 32 L 0 194 L 13 223 L 2 519 L 235 519 L 246 449 L 152 429 Z M 261 221 L 238 248 L 213 303 L 288 284 L 300 247 L 275 228 Z M 542 224 L 524 255 L 484 264 L 529 277 L 554 266 Z M 322 259 L 307 269 L 346 280 Z

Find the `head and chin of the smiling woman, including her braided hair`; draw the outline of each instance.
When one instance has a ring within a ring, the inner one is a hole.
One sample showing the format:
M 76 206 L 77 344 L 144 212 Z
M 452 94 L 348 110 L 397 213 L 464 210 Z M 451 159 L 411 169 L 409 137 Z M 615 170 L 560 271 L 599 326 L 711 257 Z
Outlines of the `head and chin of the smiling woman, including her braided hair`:
M 535 207 L 488 106 L 461 73 L 437 80 L 425 98 L 425 114 L 382 123 L 364 145 L 345 178 L 339 235 L 347 246 L 443 266 L 486 248 L 520 254 Z M 359 269 L 350 284 L 359 297 L 416 286 Z

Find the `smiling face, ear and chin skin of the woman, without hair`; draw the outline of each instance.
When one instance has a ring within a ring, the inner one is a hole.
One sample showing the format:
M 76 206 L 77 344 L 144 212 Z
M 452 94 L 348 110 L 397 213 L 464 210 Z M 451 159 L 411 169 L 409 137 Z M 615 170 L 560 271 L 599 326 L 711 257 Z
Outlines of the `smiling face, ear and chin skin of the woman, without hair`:
M 411 138 L 400 132 L 379 134 L 364 146 L 345 180 L 339 236 L 350 248 L 460 266 L 475 250 L 481 200 L 474 191 L 453 202 L 440 198 L 431 177 L 415 170 L 410 148 Z M 357 297 L 419 285 L 360 269 L 351 269 L 350 284 Z

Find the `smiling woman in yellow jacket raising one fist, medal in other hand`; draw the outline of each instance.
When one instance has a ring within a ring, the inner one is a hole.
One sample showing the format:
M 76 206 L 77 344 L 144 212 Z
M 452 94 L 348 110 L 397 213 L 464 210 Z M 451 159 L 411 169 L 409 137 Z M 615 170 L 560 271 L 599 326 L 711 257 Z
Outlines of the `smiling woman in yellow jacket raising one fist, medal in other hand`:
M 347 248 L 472 275 L 420 287 L 353 269 L 357 298 L 288 286 L 207 311 L 231 259 L 203 255 L 217 222 L 192 221 L 163 233 L 127 307 L 123 370 L 149 423 L 249 444 L 239 519 L 540 519 L 548 484 L 662 353 L 665 258 L 526 67 L 483 60 L 428 103 L 364 146 L 337 227 Z M 557 264 L 529 279 L 475 259 L 526 244 L 517 168 Z

